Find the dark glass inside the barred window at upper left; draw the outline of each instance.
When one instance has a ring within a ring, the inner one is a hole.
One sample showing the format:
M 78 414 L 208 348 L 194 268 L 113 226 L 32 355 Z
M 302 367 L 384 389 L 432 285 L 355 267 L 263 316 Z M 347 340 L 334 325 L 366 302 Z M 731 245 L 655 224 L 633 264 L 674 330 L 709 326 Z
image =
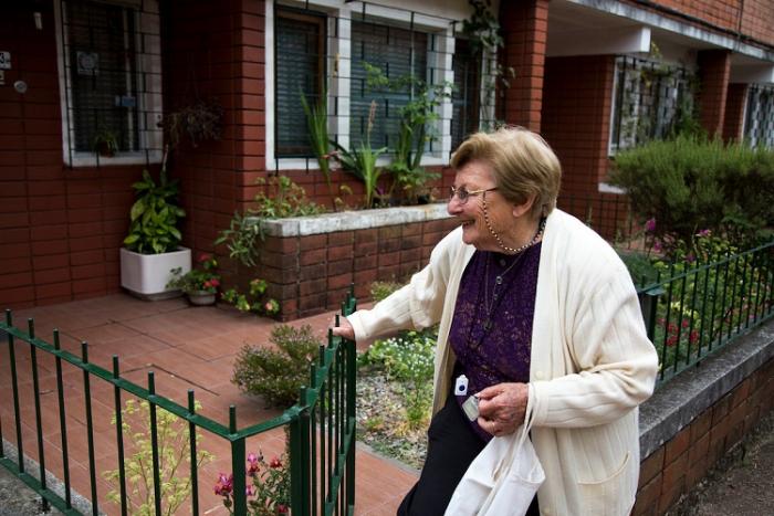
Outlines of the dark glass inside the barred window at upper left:
M 136 11 L 86 1 L 65 7 L 75 150 L 92 151 L 107 135 L 118 150 L 138 150 Z

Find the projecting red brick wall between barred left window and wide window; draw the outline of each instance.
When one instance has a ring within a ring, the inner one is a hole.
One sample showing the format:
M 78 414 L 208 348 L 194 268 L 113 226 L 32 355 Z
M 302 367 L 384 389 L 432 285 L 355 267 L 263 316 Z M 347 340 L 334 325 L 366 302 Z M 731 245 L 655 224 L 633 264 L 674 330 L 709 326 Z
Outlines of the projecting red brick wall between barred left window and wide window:
M 265 176 L 264 2 L 166 2 L 161 17 L 166 109 L 210 98 L 224 108 L 222 139 L 184 143 L 170 167 L 188 213 L 185 243 L 211 252 Z

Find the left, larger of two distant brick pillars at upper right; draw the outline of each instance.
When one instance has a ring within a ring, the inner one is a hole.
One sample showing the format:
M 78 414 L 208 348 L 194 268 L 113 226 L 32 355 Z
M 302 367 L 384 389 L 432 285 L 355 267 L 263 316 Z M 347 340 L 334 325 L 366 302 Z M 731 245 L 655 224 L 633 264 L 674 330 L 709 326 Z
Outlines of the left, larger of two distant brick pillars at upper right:
M 701 125 L 710 136 L 723 134 L 730 72 L 730 51 L 703 50 L 699 52 Z

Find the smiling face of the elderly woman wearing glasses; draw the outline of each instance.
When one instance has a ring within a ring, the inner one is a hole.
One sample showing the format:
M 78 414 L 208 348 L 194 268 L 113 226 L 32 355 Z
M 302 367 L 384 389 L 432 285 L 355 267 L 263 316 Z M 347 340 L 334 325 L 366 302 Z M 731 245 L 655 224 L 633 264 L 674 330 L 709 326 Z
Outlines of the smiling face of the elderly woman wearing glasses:
M 475 192 L 496 188 L 491 166 L 481 160 L 469 161 L 457 170 L 454 188 Z M 502 234 L 512 230 L 514 222 L 513 207 L 494 190 L 469 194 L 466 202 L 459 196 L 449 199 L 449 214 L 460 219 L 462 224 L 462 241 L 482 251 L 500 251 L 500 246 L 487 228 L 483 212 L 483 197 L 487 196 L 487 211 L 492 229 Z

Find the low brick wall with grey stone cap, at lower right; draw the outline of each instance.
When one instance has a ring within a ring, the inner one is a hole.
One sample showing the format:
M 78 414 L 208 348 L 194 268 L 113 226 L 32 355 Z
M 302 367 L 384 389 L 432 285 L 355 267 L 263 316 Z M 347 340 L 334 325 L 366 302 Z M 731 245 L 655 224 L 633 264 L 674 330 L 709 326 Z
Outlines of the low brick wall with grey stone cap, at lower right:
M 672 379 L 640 409 L 634 516 L 667 512 L 774 407 L 774 320 Z

